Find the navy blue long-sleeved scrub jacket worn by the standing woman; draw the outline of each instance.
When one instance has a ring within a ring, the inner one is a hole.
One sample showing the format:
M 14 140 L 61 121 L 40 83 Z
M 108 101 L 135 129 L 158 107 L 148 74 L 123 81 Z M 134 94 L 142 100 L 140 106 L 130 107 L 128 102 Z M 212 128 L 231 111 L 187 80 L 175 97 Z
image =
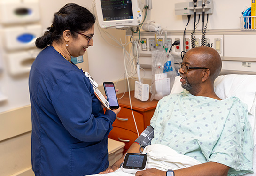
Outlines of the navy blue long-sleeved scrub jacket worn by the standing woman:
M 89 79 L 48 46 L 29 76 L 31 161 L 36 176 L 83 176 L 108 167 L 108 134 L 116 119 L 104 114 Z

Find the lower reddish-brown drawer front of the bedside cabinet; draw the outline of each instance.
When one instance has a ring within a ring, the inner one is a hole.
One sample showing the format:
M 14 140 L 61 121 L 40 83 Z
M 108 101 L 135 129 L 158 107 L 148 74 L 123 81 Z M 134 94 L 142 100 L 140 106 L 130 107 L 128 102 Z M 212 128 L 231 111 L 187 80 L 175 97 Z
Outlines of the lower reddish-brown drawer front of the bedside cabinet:
M 138 138 L 137 133 L 120 127 L 113 127 L 108 138 L 125 143 L 124 149 L 128 150 L 132 143 Z

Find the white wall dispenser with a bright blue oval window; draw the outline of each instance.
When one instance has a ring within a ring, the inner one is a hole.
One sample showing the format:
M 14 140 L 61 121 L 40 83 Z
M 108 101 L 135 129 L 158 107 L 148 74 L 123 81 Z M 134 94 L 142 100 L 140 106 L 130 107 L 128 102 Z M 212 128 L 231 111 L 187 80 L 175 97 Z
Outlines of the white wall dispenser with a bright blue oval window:
M 4 28 L 3 46 L 7 50 L 35 47 L 35 41 L 41 35 L 42 26 L 39 24 Z

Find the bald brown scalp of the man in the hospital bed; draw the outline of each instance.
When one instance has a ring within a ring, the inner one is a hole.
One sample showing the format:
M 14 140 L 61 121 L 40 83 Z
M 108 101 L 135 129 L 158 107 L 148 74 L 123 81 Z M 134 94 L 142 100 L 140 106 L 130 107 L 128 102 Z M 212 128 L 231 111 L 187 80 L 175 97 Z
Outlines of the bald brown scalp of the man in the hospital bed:
M 206 67 L 210 70 L 211 80 L 214 81 L 219 75 L 222 62 L 219 53 L 210 47 L 200 46 L 189 50 L 186 54 L 190 59 L 196 60 L 200 67 Z

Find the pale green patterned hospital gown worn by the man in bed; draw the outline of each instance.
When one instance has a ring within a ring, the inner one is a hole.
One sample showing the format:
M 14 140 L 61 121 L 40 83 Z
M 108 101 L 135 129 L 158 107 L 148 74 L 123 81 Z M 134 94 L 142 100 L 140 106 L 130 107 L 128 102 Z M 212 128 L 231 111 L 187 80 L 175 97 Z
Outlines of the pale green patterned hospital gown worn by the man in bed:
M 253 139 L 247 105 L 237 97 L 216 100 L 184 90 L 158 102 L 152 144 L 231 167 L 229 176 L 252 173 Z

